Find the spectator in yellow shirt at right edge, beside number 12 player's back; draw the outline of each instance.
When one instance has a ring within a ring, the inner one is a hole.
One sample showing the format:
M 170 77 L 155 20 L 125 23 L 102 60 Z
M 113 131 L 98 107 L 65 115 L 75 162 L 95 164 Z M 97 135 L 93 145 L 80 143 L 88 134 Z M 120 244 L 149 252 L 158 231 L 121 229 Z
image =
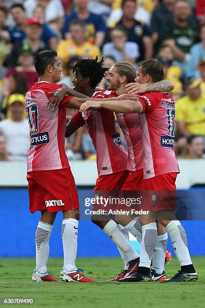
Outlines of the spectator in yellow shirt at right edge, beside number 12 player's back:
M 187 88 L 187 95 L 176 101 L 176 125 L 179 136 L 205 136 L 205 95 L 195 80 Z

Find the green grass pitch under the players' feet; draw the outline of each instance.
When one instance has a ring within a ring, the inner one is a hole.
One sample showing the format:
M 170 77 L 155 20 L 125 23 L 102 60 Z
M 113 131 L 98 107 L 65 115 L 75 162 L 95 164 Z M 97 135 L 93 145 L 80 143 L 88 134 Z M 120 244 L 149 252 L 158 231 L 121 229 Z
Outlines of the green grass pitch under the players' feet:
M 38 283 L 31 282 L 33 258 L 5 258 L 0 259 L 0 297 L 34 298 L 34 304 L 16 307 L 201 308 L 205 307 L 205 257 L 192 260 L 199 274 L 196 282 L 106 282 L 123 268 L 120 258 L 78 258 L 77 266 L 84 268 L 84 274 L 94 278 L 95 283 Z M 59 277 L 61 267 L 62 259 L 49 259 L 48 269 L 54 277 Z M 176 258 L 165 269 L 168 277 L 175 274 L 179 269 Z

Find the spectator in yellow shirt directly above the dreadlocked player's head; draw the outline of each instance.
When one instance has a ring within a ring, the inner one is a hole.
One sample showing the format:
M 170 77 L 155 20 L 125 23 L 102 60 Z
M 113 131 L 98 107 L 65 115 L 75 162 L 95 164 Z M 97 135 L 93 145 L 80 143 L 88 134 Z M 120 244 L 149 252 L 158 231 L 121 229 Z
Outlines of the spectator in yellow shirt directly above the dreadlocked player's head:
M 85 39 L 85 25 L 83 22 L 78 20 L 70 22 L 70 35 L 71 39 L 61 40 L 57 46 L 57 53 L 63 66 L 65 66 L 70 56 L 91 59 L 95 59 L 98 56 L 98 59 L 100 59 L 99 48 Z

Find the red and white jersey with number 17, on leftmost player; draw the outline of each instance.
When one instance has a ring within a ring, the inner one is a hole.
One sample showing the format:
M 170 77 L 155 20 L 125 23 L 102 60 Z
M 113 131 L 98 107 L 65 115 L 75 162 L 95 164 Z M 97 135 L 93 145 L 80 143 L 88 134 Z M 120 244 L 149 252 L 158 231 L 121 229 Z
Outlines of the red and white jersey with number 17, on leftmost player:
M 69 168 L 65 154 L 65 130 L 67 102 L 73 96 L 66 96 L 59 108 L 48 109 L 52 94 L 60 89 L 56 84 L 39 82 L 26 93 L 25 103 L 30 126 L 30 150 L 27 156 L 27 171 L 55 170 Z

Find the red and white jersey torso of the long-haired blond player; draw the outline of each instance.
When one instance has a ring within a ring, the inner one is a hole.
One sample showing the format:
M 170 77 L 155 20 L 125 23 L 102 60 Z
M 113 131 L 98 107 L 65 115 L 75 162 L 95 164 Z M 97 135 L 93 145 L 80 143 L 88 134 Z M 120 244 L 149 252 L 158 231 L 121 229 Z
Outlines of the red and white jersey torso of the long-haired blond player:
M 128 147 L 127 170 L 140 170 L 144 167 L 144 149 L 141 139 L 139 114 L 116 112 L 116 117 Z

